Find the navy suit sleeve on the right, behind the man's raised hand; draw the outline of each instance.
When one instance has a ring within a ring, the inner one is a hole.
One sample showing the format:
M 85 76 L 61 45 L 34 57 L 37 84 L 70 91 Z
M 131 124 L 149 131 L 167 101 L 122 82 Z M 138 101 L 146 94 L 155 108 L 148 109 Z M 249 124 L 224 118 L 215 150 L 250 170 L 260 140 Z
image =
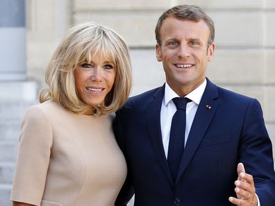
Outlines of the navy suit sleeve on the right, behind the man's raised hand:
M 267 134 L 260 103 L 253 99 L 247 108 L 242 140 L 240 162 L 247 173 L 253 175 L 256 194 L 261 206 L 275 205 L 275 173 L 272 142 Z

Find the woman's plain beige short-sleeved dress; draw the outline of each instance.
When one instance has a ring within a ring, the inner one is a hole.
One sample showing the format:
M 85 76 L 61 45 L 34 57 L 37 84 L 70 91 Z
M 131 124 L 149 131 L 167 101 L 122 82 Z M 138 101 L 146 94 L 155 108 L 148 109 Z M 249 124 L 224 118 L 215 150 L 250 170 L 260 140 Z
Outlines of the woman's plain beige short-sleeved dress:
M 113 206 L 126 162 L 111 115 L 74 114 L 53 101 L 22 121 L 11 200 L 42 206 Z

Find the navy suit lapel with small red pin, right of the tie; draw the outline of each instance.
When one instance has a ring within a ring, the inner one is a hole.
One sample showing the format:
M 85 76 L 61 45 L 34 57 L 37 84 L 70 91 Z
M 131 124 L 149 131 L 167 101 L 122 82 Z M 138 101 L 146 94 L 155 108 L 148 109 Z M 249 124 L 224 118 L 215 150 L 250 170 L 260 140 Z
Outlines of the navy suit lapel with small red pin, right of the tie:
M 208 80 L 206 89 L 203 92 L 201 102 L 194 117 L 190 133 L 188 136 L 188 141 L 185 146 L 183 157 L 181 159 L 181 165 L 178 169 L 178 176 L 176 183 L 183 175 L 186 167 L 188 166 L 190 160 L 192 159 L 194 153 L 196 152 L 201 139 L 206 133 L 210 122 L 212 121 L 214 114 L 218 108 L 218 103 L 215 101 L 215 98 L 218 97 L 217 86 Z

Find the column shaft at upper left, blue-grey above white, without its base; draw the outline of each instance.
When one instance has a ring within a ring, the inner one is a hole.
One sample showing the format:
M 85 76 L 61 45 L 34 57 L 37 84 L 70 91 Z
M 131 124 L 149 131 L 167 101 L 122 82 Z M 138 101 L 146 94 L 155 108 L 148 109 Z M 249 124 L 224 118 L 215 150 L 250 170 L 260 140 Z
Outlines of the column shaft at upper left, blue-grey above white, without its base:
M 24 0 L 1 1 L 0 80 L 26 79 L 26 27 Z

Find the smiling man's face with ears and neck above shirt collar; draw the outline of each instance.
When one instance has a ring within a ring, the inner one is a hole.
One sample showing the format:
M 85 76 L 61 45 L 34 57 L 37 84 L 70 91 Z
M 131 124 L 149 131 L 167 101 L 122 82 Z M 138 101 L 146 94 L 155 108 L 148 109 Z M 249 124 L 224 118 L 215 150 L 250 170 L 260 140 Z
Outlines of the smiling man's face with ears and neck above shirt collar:
M 205 22 L 167 17 L 160 28 L 161 45 L 156 58 L 163 62 L 166 81 L 179 96 L 196 89 L 206 78 L 206 67 L 214 55 L 208 46 L 210 30 Z

